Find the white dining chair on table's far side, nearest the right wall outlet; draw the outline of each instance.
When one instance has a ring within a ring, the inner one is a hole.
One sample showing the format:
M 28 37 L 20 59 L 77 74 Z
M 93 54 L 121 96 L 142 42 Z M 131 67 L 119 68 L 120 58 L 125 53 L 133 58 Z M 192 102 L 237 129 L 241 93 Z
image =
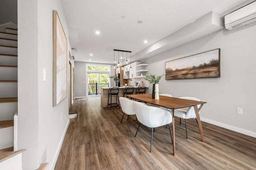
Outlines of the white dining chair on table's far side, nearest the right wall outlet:
M 198 98 L 194 98 L 194 97 L 180 97 L 181 99 L 187 99 L 187 100 L 196 100 L 196 101 L 200 101 Z M 201 105 L 197 105 L 197 107 L 199 108 Z M 199 112 L 200 113 L 200 112 Z M 188 139 L 188 129 L 187 129 L 187 121 L 186 119 L 192 119 L 195 118 L 196 119 L 196 113 L 194 110 L 194 107 L 185 107 L 182 109 L 175 109 L 174 110 L 174 116 L 179 117 L 180 118 L 180 125 L 181 125 L 181 119 L 185 120 L 185 127 L 186 127 L 186 139 Z M 196 119 L 197 122 L 197 119 Z

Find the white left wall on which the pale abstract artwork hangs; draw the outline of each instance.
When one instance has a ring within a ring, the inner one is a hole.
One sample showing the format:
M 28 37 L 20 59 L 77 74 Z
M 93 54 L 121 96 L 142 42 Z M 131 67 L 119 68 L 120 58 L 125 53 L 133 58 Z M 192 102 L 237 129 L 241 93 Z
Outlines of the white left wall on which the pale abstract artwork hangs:
M 61 0 L 18 0 L 18 149 L 27 149 L 22 159 L 26 170 L 43 162 L 54 168 L 69 122 L 68 97 L 52 106 L 52 10 L 57 10 L 68 40 Z

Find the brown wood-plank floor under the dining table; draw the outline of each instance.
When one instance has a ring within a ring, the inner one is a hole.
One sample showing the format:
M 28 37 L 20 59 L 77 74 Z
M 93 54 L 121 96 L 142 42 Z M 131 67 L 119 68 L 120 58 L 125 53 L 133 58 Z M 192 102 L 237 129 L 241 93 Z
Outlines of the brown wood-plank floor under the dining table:
M 205 143 L 198 126 L 188 119 L 188 139 L 184 120 L 175 121 L 176 155 L 172 155 L 169 129 L 158 127 L 150 153 L 150 128 L 140 126 L 135 115 L 122 123 L 122 109 L 100 107 L 100 98 L 76 99 L 55 170 L 256 170 L 256 139 L 202 122 Z

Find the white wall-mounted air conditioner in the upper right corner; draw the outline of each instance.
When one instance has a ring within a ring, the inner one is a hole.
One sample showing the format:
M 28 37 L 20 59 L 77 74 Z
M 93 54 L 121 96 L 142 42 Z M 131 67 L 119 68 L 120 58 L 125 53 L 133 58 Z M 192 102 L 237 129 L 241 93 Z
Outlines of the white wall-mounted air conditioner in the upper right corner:
M 225 27 L 236 29 L 256 21 L 256 1 L 225 16 Z

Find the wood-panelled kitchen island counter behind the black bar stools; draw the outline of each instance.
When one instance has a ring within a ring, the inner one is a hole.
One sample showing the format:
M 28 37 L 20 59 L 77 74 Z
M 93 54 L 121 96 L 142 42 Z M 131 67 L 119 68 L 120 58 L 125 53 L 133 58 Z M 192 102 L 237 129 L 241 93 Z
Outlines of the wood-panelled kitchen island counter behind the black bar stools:
M 136 90 L 138 89 L 138 86 L 126 86 L 126 87 L 134 87 L 133 94 L 136 94 Z M 112 87 L 110 87 L 110 88 L 112 88 Z M 148 87 L 146 87 L 146 88 L 148 88 Z M 124 97 L 124 89 L 125 89 L 125 86 L 119 87 L 119 93 L 118 93 L 119 97 Z M 109 90 L 109 87 L 101 88 L 101 92 L 100 92 L 100 106 L 101 107 L 108 107 L 108 90 Z M 114 96 L 112 96 L 112 102 L 113 103 L 116 102 L 116 98 L 114 98 Z

